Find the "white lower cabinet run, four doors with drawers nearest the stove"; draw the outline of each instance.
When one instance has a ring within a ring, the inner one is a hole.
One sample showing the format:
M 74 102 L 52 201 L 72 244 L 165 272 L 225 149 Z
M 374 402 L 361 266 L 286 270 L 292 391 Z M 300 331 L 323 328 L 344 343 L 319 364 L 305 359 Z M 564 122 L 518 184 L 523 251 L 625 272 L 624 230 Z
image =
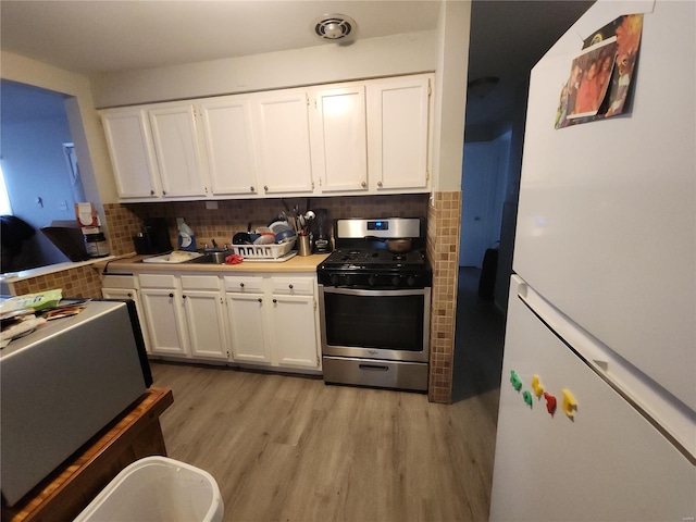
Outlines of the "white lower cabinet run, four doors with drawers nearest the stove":
M 321 370 L 315 274 L 140 274 L 150 353 Z

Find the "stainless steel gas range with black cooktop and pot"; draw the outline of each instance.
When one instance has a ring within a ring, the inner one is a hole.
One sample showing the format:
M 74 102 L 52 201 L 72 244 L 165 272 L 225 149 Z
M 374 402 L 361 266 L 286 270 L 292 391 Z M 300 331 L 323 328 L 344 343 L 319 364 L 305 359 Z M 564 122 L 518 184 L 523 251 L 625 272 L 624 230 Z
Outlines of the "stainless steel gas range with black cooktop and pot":
M 426 391 L 433 274 L 424 221 L 337 220 L 334 236 L 336 250 L 316 269 L 324 381 Z

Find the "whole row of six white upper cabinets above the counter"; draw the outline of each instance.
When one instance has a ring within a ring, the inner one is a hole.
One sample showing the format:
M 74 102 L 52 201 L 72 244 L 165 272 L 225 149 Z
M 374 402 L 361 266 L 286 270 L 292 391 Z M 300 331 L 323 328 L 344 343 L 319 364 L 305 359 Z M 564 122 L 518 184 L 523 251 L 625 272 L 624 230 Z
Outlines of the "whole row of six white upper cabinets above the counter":
M 430 189 L 432 74 L 101 112 L 125 201 Z

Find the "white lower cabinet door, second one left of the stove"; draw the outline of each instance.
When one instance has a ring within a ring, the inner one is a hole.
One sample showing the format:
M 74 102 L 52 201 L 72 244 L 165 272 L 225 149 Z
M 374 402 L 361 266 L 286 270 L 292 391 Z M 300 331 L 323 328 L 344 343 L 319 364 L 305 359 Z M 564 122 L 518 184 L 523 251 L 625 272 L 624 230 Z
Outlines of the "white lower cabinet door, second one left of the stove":
M 227 294 L 227 313 L 235 361 L 271 363 L 263 321 L 263 294 Z

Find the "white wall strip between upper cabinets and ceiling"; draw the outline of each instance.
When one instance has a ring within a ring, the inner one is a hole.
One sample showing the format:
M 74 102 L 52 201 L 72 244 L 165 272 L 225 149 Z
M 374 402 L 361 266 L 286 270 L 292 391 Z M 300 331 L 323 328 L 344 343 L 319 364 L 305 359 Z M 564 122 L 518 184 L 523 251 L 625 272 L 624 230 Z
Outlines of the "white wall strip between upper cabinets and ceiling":
M 436 33 L 421 32 L 350 46 L 318 46 L 187 63 L 91 78 L 96 107 L 279 89 L 348 79 L 432 72 Z

